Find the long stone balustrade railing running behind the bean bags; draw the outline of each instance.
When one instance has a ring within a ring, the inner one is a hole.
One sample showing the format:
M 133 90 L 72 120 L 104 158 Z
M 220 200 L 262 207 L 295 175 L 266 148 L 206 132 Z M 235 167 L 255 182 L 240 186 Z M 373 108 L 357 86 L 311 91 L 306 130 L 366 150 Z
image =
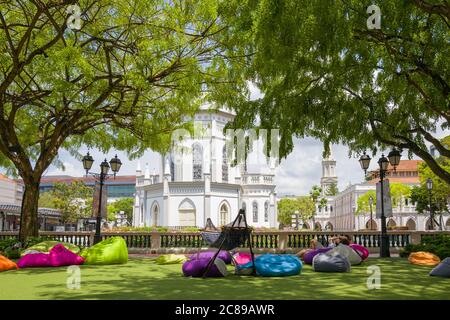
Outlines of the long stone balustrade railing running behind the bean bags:
M 327 232 L 327 231 L 256 231 L 252 233 L 252 246 L 262 250 L 302 249 L 309 247 L 311 240 L 316 238 L 324 245 L 335 235 L 348 235 L 352 242 L 367 248 L 379 249 L 380 232 Z M 390 231 L 389 243 L 393 249 L 400 249 L 410 243 L 420 243 L 422 238 L 448 234 L 449 231 Z M 94 232 L 48 232 L 39 234 L 46 239 L 69 242 L 83 247 L 93 244 Z M 207 243 L 199 232 L 103 232 L 102 239 L 121 236 L 128 248 L 138 249 L 170 249 L 170 248 L 205 248 Z M 17 232 L 0 232 L 0 240 L 17 238 Z M 248 243 L 244 245 L 247 247 Z

